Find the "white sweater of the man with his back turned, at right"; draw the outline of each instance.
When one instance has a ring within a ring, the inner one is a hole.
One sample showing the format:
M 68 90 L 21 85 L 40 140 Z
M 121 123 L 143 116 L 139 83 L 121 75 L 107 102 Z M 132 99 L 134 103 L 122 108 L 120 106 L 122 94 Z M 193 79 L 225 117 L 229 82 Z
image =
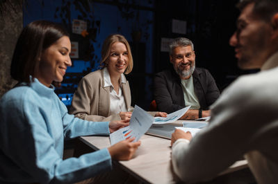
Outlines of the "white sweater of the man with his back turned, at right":
M 217 176 L 245 156 L 258 183 L 278 181 L 278 53 L 239 77 L 211 106 L 211 122 L 172 146 L 174 172 L 188 183 Z

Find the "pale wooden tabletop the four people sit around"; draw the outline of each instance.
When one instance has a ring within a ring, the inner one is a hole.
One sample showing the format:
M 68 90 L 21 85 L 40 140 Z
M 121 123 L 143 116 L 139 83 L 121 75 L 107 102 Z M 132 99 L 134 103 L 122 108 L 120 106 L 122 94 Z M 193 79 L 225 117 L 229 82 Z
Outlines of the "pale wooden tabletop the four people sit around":
M 79 139 L 95 150 L 111 146 L 109 137 L 105 136 L 83 136 Z M 116 163 L 143 183 L 176 183 L 177 178 L 175 178 L 171 167 L 170 140 L 143 135 L 140 141 L 141 145 L 134 158 Z M 245 167 L 247 167 L 247 161 L 240 160 L 221 174 L 234 172 Z

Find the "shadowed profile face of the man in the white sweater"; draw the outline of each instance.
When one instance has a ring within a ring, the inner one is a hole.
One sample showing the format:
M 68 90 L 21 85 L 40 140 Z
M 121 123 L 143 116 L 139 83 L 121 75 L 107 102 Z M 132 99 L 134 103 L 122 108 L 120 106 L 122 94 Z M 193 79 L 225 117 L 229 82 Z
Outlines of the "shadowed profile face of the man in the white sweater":
M 229 44 L 235 47 L 238 66 L 242 69 L 261 68 L 268 57 L 272 28 L 254 17 L 254 3 L 247 5 L 237 20 L 237 30 Z

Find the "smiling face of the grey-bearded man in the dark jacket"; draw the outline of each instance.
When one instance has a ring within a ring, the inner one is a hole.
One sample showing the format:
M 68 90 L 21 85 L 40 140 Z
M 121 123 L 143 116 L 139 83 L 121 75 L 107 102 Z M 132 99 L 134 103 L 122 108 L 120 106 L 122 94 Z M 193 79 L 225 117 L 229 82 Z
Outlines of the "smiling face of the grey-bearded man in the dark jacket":
M 170 62 L 181 79 L 188 79 L 195 70 L 195 52 L 191 46 L 177 46 L 170 55 Z

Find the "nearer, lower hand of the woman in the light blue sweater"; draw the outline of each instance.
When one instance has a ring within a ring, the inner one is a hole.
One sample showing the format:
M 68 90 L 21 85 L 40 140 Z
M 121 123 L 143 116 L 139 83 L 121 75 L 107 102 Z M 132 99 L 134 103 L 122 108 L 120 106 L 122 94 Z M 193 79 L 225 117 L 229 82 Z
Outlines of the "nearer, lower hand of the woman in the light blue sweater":
M 136 149 L 140 146 L 141 142 L 132 142 L 135 138 L 129 138 L 117 142 L 115 145 L 108 147 L 108 151 L 113 160 L 130 160 L 135 154 Z

